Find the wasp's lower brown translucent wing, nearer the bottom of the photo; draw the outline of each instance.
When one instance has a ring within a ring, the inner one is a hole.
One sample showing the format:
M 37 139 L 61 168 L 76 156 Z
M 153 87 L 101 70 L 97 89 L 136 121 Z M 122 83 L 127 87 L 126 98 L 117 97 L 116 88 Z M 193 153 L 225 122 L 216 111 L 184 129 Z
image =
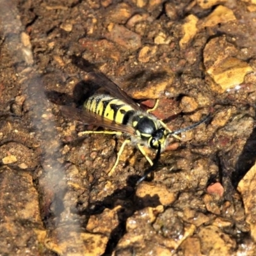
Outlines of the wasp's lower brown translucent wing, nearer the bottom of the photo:
M 114 131 L 128 132 L 131 135 L 134 134 L 134 129 L 131 126 L 118 124 L 104 116 L 97 115 L 90 111 L 72 108 L 70 106 L 61 106 L 61 112 L 64 116 L 83 122 L 84 124 L 100 126 Z

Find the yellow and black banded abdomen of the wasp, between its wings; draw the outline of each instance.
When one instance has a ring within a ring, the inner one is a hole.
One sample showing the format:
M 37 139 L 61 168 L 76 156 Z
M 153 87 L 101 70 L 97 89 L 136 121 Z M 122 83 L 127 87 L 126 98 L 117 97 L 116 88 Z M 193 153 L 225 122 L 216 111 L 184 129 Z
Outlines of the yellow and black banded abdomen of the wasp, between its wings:
M 84 108 L 97 115 L 104 116 L 118 124 L 126 125 L 135 111 L 122 100 L 111 95 L 93 95 L 84 102 Z

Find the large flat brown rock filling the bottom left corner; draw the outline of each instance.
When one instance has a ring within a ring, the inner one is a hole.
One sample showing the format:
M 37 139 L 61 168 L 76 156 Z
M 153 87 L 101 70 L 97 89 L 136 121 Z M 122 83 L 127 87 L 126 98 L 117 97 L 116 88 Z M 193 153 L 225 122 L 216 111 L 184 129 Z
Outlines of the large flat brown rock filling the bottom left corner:
M 1 254 L 38 255 L 39 242 L 33 228 L 44 230 L 38 193 L 28 172 L 7 167 L 0 170 Z M 22 235 L 21 235 L 22 234 Z M 29 241 L 29 246 L 28 246 Z

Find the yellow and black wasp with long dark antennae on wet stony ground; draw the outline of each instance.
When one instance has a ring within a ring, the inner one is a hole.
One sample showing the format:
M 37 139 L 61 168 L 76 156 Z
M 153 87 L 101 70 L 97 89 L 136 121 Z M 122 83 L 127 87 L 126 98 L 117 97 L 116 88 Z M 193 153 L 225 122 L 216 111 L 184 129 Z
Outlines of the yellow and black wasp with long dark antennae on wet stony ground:
M 72 108 L 70 106 L 62 106 L 61 112 L 64 116 L 95 126 L 104 127 L 111 131 L 84 131 L 82 134 L 104 133 L 115 134 L 120 136 L 125 134 L 126 140 L 122 143 L 120 150 L 117 153 L 116 161 L 108 175 L 111 176 L 119 162 L 119 158 L 124 151 L 127 143 L 132 143 L 145 156 L 151 168 L 138 180 L 141 182 L 151 173 L 159 161 L 161 152 L 168 145 L 168 137 L 188 131 L 196 126 L 203 124 L 209 119 L 210 115 L 199 122 L 177 131 L 170 131 L 168 127 L 156 116 L 150 114 L 150 111 L 156 109 L 157 103 L 153 109 L 145 111 L 139 104 L 127 95 L 117 84 L 109 80 L 106 76 L 99 72 L 90 72 L 87 74 L 88 80 L 108 90 L 109 94 L 96 93 L 89 97 L 83 104 L 83 109 Z M 180 139 L 180 138 L 179 138 Z M 156 150 L 156 158 L 154 162 L 147 156 L 144 147 Z

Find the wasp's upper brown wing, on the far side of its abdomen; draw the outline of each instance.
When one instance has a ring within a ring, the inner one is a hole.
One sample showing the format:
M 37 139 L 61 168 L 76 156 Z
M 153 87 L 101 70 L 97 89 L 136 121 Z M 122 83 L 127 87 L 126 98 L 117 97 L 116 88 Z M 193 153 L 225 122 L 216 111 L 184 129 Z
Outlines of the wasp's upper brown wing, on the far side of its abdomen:
M 140 106 L 129 97 L 117 84 L 113 83 L 108 77 L 99 72 L 90 72 L 87 74 L 88 79 L 93 83 L 108 90 L 116 99 L 124 100 L 127 104 L 131 105 L 135 110 L 141 111 Z

